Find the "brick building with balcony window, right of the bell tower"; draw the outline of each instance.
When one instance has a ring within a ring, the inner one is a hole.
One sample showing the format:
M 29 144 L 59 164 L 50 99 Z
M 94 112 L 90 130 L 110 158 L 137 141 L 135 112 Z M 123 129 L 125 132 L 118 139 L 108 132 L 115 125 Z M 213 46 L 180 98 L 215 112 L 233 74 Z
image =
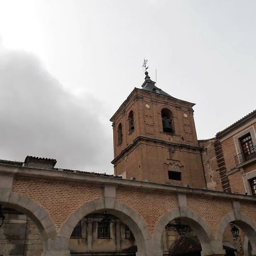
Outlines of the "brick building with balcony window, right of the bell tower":
M 256 110 L 216 134 L 199 141 L 207 187 L 256 195 Z

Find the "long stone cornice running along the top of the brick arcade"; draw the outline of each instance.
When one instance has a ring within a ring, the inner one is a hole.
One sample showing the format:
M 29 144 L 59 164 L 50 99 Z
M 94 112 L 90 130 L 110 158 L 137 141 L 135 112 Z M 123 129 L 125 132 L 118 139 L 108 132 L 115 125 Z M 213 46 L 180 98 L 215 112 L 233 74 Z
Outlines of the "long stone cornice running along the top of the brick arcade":
M 128 188 L 133 191 L 154 191 L 161 193 L 183 193 L 186 195 L 210 197 L 226 200 L 251 201 L 256 203 L 256 197 L 248 195 L 238 195 L 227 192 L 210 191 L 208 189 L 177 187 L 174 185 L 164 185 L 148 183 L 144 181 L 118 179 L 117 177 L 104 177 L 92 174 L 71 173 L 59 170 L 43 170 L 38 168 L 17 167 L 7 164 L 0 164 L 1 175 L 11 175 L 14 177 L 30 177 L 31 179 L 48 179 L 68 182 L 79 182 L 93 184 L 99 187 L 112 185 L 117 188 Z

